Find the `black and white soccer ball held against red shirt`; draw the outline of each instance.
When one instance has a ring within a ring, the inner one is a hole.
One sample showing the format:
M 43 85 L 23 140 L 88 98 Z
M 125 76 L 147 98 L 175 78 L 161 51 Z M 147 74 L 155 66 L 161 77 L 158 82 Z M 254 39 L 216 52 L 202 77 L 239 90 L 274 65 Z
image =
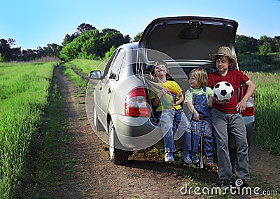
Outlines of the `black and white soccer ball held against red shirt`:
M 228 101 L 233 95 L 233 87 L 228 81 L 220 81 L 214 86 L 213 92 L 218 101 Z

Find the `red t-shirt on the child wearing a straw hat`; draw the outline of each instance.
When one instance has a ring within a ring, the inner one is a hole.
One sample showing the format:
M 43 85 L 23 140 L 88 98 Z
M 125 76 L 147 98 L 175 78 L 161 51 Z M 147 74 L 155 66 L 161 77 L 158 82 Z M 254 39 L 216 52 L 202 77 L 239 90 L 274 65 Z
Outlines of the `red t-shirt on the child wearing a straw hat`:
M 239 71 L 237 69 L 233 69 L 231 71 L 228 71 L 228 74 L 225 76 L 222 76 L 218 73 L 218 71 L 215 71 L 213 73 L 208 74 L 208 85 L 210 88 L 214 88 L 214 85 L 220 81 L 228 81 L 232 84 L 234 88 L 234 94 L 232 98 L 230 98 L 230 101 L 226 102 L 225 104 L 212 104 L 212 108 L 218 109 L 219 111 L 224 112 L 225 114 L 236 114 L 237 113 L 237 103 L 238 103 L 238 97 L 237 97 L 237 89 L 240 85 L 240 83 L 246 83 L 246 81 L 249 80 L 248 76 L 244 74 L 242 71 Z

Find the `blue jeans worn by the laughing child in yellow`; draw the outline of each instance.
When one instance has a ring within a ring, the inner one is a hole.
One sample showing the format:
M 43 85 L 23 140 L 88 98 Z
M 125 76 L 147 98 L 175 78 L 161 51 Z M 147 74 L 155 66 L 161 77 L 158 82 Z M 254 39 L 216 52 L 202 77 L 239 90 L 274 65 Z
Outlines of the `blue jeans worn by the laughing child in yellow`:
M 160 121 L 160 129 L 163 135 L 165 153 L 175 151 L 174 135 L 176 132 L 180 137 L 183 151 L 190 151 L 191 135 L 190 132 L 186 131 L 190 122 L 183 110 L 181 110 L 181 113 L 172 109 L 158 111 L 158 120 Z

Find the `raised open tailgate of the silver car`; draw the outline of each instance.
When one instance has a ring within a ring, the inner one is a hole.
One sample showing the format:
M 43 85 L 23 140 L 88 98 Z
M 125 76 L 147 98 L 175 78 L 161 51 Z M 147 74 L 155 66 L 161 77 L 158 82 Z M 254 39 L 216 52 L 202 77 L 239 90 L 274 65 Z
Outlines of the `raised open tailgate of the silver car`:
M 209 53 L 220 46 L 232 48 L 238 23 L 223 18 L 181 16 L 153 20 L 144 30 L 139 48 L 158 50 L 172 60 L 209 60 Z M 155 58 L 153 51 L 144 52 L 148 62 Z M 162 60 L 167 61 L 167 57 Z

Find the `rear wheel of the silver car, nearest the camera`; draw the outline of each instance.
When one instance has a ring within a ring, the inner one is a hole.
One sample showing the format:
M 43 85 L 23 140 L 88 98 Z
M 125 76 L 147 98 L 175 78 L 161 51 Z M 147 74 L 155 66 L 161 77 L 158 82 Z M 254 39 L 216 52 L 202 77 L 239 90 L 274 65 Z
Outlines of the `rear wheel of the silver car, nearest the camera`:
M 116 143 L 118 142 L 118 137 L 116 136 L 115 126 L 113 122 L 110 121 L 109 124 L 109 153 L 112 163 L 116 165 L 125 164 L 128 161 L 128 156 L 130 151 L 124 151 L 116 148 Z

